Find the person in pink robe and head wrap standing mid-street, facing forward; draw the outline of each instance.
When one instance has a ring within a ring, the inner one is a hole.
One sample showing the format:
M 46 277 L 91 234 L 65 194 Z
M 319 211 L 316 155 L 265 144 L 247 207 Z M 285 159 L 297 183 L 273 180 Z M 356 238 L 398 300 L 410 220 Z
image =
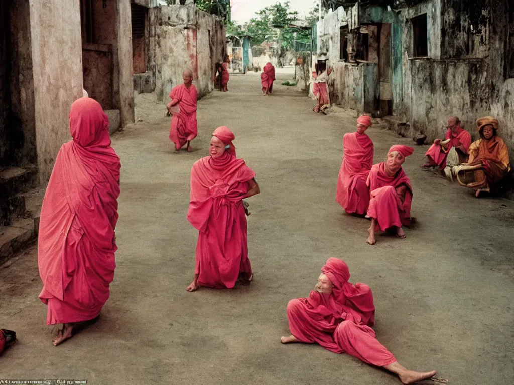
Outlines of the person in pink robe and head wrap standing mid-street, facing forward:
M 193 282 L 199 286 L 232 288 L 237 280 L 253 278 L 243 199 L 259 194 L 255 172 L 235 157 L 234 134 L 218 127 L 212 134 L 210 156 L 193 164 L 187 218 L 198 229 Z

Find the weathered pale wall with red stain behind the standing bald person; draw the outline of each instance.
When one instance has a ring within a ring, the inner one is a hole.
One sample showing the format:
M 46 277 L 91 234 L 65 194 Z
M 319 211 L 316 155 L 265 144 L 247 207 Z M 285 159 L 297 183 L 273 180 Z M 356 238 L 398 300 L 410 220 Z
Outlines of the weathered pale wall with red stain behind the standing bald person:
M 149 70 L 155 76 L 157 100 L 166 100 L 182 83 L 182 72 L 193 71 L 201 97 L 212 91 L 216 62 L 226 53 L 223 23 L 194 4 L 171 5 L 149 10 Z

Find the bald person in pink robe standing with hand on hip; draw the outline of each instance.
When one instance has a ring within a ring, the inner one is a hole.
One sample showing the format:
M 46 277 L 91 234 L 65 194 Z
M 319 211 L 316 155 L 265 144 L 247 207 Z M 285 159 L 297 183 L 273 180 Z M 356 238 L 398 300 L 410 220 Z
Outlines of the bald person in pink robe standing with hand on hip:
M 183 83 L 173 87 L 170 92 L 171 102 L 167 107 L 173 115 L 171 118 L 170 140 L 179 151 L 185 144 L 188 152 L 193 151 L 191 141 L 198 135 L 196 109 L 198 92 L 193 84 L 193 72 L 189 69 L 182 73 Z M 175 109 L 178 105 L 178 112 Z M 175 108 L 174 108 L 175 107 Z

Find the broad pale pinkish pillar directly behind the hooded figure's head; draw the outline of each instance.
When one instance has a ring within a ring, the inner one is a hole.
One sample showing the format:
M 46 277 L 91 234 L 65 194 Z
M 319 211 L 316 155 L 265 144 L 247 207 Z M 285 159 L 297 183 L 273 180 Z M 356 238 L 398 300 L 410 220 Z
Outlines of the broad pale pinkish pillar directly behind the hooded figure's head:
M 82 97 L 79 2 L 30 2 L 38 172 L 50 177 L 57 152 L 71 139 L 68 113 Z

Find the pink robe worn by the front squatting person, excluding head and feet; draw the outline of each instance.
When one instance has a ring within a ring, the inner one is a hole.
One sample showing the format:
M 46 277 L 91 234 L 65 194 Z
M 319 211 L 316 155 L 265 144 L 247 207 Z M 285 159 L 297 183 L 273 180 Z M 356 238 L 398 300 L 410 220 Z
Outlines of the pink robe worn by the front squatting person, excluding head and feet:
M 395 176 L 389 177 L 383 162 L 375 164 L 371 168 L 366 184 L 370 188 L 371 197 L 368 215 L 377 220 L 377 229 L 386 230 L 391 226 L 400 227 L 402 224 L 410 224 L 412 187 L 402 168 Z M 403 202 L 395 190 L 401 185 L 407 186 Z

